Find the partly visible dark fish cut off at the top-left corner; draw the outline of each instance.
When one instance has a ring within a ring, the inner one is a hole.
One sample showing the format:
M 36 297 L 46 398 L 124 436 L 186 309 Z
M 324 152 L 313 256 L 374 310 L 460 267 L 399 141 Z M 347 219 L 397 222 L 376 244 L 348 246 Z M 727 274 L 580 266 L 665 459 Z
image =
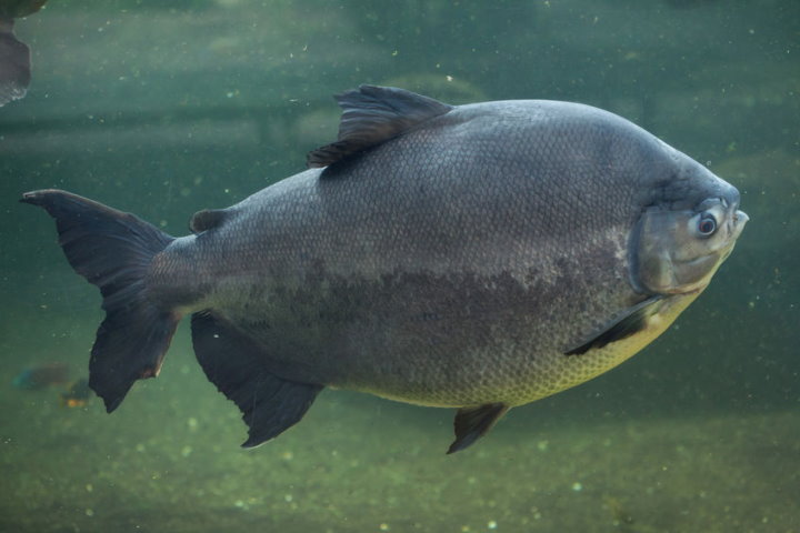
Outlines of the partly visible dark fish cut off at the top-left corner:
M 47 0 L 0 2 L 0 108 L 24 98 L 31 80 L 30 49 L 17 39 L 14 19 L 39 11 Z

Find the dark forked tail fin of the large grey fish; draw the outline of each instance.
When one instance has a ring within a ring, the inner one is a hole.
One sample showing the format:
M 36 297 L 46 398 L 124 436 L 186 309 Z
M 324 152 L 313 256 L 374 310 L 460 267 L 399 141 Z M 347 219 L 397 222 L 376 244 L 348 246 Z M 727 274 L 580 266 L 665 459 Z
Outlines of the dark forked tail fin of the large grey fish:
M 89 362 L 89 386 L 110 413 L 136 380 L 158 374 L 180 315 L 147 294 L 153 257 L 174 239 L 130 213 L 59 190 L 23 194 L 56 219 L 72 268 L 100 288 L 106 320 Z

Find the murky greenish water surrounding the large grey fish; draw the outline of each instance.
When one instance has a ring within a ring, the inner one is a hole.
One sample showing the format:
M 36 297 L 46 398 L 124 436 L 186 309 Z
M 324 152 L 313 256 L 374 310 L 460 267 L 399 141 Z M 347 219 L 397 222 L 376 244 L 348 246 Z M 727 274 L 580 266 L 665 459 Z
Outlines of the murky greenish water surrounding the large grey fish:
M 51 0 L 17 33 L 34 69 L 0 108 L 0 531 L 800 532 L 800 3 Z M 81 376 L 102 318 L 23 191 L 183 234 L 302 170 L 360 83 L 609 109 L 710 164 L 751 221 L 661 339 L 454 455 L 452 412 L 341 391 L 240 450 L 186 324 L 113 415 L 11 386 L 49 361 Z

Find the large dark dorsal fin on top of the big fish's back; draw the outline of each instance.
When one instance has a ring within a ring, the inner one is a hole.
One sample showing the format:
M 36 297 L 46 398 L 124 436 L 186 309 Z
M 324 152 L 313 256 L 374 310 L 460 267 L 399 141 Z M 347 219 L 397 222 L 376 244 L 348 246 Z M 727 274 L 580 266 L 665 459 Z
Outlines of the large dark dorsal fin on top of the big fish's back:
M 361 86 L 337 94 L 336 100 L 342 108 L 339 140 L 310 152 L 311 168 L 328 167 L 453 109 L 394 87 Z

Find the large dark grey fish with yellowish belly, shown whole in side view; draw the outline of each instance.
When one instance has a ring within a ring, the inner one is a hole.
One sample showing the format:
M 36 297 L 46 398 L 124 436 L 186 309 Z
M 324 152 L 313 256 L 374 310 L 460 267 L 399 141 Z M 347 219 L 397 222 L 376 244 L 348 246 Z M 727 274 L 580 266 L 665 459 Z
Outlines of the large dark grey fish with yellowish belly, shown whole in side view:
M 190 315 L 242 446 L 330 388 L 456 409 L 453 453 L 663 333 L 748 221 L 733 185 L 598 108 L 378 86 L 336 99 L 338 139 L 307 170 L 197 212 L 184 237 L 70 192 L 23 194 L 102 294 L 89 386 L 108 412 Z

